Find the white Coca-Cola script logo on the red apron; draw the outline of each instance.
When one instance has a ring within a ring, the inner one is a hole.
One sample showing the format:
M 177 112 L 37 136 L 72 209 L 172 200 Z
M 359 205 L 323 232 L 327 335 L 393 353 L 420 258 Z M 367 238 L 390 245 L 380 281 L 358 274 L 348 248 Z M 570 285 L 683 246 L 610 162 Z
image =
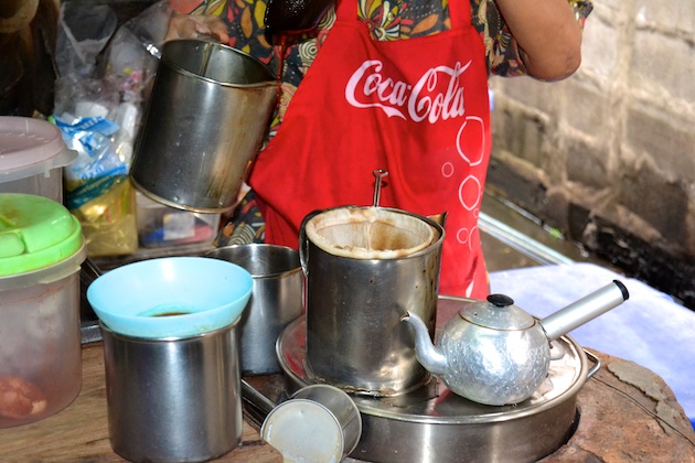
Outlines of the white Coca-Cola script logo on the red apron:
M 355 108 L 379 108 L 388 117 L 416 122 L 461 117 L 466 114 L 461 75 L 470 65 L 469 61 L 431 67 L 413 85 L 383 75 L 384 64 L 367 60 L 348 80 L 345 99 Z

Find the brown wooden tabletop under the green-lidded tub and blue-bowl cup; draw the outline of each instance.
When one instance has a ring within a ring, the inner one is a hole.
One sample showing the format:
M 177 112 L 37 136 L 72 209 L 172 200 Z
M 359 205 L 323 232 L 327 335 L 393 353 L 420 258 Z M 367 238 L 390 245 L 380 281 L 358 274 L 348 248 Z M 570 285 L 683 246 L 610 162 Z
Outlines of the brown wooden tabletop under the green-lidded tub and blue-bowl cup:
M 67 408 L 31 424 L 0 429 L 0 461 L 124 462 L 108 439 L 104 353 L 101 343 L 82 349 L 83 385 Z M 281 462 L 279 452 L 265 443 L 244 421 L 242 443 L 217 461 Z

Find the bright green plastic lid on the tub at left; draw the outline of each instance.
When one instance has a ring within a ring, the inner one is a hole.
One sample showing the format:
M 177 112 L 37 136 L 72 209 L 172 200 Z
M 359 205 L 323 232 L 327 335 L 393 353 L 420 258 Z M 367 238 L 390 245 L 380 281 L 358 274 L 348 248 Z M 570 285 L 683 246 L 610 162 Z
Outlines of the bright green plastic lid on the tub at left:
M 62 204 L 31 194 L 0 194 L 0 277 L 58 263 L 82 246 L 79 220 Z

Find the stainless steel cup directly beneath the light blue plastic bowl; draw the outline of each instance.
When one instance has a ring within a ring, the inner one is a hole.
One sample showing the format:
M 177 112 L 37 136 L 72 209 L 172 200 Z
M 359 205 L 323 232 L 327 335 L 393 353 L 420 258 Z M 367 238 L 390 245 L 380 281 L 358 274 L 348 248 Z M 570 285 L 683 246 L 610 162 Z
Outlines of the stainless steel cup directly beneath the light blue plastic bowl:
M 206 461 L 242 440 L 237 324 L 181 338 L 101 324 L 111 448 L 133 462 Z

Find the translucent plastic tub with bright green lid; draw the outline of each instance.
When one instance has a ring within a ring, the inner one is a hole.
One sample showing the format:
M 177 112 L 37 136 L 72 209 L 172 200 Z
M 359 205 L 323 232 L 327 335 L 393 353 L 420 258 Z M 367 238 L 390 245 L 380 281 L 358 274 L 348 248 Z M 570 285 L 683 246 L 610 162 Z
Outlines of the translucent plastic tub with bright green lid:
M 0 193 L 0 428 L 67 407 L 82 387 L 79 222 L 43 196 Z

